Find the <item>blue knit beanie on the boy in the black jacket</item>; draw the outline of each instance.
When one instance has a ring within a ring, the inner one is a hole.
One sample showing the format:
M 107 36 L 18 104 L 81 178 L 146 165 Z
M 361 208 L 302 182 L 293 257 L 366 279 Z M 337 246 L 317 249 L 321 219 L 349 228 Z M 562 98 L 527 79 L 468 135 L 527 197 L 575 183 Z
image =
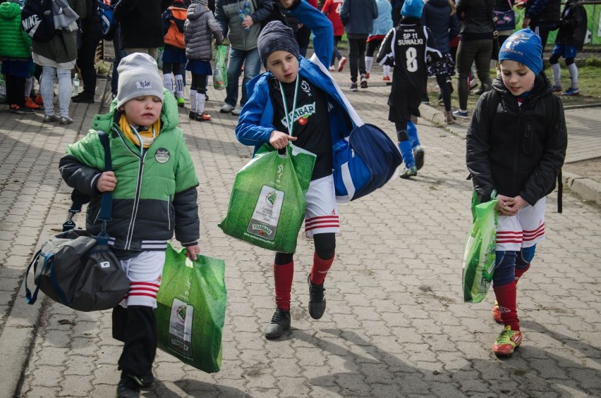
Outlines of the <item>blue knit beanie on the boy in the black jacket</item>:
M 538 75 L 542 70 L 542 45 L 540 37 L 529 27 L 518 30 L 509 36 L 499 51 L 499 62 L 504 59 L 516 61 L 528 66 Z

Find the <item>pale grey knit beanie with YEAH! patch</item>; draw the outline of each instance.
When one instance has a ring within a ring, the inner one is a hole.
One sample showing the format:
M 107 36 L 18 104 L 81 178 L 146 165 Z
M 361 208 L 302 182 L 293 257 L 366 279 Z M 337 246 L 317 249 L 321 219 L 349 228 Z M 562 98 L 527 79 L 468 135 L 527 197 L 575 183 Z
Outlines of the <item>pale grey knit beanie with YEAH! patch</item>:
M 159 76 L 157 61 L 148 54 L 133 53 L 123 59 L 117 67 L 119 85 L 117 108 L 130 99 L 154 95 L 163 100 L 163 80 Z

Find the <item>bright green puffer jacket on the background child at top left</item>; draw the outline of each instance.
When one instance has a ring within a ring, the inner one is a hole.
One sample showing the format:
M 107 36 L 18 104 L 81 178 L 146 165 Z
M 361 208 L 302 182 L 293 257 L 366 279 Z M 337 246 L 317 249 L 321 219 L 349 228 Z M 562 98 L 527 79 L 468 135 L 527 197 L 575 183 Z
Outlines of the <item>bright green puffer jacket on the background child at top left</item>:
M 16 3 L 0 4 L 0 57 L 31 56 L 31 38 L 21 27 L 21 9 Z

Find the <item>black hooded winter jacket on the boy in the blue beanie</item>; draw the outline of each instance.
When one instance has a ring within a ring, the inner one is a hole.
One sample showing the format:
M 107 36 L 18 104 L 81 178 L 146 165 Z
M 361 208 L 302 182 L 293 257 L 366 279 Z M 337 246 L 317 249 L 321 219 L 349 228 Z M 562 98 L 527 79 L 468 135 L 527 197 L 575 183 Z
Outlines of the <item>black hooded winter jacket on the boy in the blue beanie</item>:
M 478 100 L 466 137 L 474 188 L 480 202 L 489 201 L 496 189 L 508 197 L 520 195 L 534 206 L 553 191 L 564 164 L 564 108 L 543 73 L 521 106 L 501 77 L 492 88 Z

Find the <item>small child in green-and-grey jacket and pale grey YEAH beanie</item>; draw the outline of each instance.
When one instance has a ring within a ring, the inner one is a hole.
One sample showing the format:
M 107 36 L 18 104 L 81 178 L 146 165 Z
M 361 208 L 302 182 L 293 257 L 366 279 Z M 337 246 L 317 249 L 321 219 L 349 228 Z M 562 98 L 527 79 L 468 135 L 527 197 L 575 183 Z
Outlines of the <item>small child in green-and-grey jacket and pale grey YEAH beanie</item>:
M 97 234 L 102 192 L 113 192 L 109 245 L 130 290 L 113 309 L 113 337 L 125 343 L 117 397 L 138 397 L 152 383 L 157 352 L 157 291 L 167 241 L 173 237 L 196 259 L 199 225 L 194 164 L 178 128 L 174 96 L 164 90 L 157 63 L 134 53 L 119 63 L 119 91 L 87 136 L 67 147 L 60 170 L 70 187 L 90 197 L 86 229 Z M 98 130 L 109 134 L 111 171 L 104 170 Z

